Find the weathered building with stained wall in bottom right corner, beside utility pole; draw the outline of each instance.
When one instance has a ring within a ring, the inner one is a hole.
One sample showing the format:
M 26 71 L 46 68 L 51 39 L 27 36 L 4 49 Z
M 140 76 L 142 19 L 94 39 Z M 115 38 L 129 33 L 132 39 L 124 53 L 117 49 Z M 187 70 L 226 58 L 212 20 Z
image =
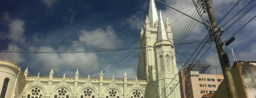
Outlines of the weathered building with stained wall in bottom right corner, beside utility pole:
M 256 61 L 236 61 L 230 69 L 238 98 L 256 98 Z M 228 98 L 223 81 L 213 98 Z

